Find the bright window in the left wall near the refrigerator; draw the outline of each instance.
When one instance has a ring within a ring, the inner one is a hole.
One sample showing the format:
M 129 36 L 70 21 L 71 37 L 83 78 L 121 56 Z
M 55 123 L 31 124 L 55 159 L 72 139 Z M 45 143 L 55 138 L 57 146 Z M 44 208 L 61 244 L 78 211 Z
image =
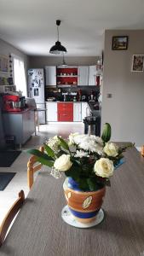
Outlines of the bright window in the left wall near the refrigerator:
M 24 61 L 20 59 L 20 57 L 13 55 L 13 65 L 14 84 L 16 85 L 16 90 L 20 90 L 22 92 L 22 96 L 27 96 Z

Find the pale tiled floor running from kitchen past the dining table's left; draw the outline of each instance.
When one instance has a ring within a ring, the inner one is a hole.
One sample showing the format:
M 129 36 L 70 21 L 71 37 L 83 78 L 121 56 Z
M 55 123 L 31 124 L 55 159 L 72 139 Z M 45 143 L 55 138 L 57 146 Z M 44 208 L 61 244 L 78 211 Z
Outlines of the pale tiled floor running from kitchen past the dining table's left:
M 26 180 L 26 163 L 30 155 L 26 153 L 26 149 L 37 148 L 42 145 L 46 139 L 49 137 L 54 137 L 55 135 L 67 137 L 71 132 L 84 133 L 84 124 L 55 123 L 50 125 L 40 125 L 40 131 L 37 133 L 37 136 L 32 136 L 26 145 L 23 146 L 22 153 L 14 161 L 14 164 L 7 168 L 0 167 L 0 172 L 16 172 L 15 176 L 6 187 L 6 189 L 0 191 L 0 224 L 5 213 L 16 200 L 20 189 L 24 190 L 25 195 L 28 193 Z

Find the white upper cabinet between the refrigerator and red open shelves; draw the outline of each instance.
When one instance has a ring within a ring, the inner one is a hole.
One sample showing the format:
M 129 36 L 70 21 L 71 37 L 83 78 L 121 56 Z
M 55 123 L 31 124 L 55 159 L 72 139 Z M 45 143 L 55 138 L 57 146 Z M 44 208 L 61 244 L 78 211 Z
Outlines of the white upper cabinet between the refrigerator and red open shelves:
M 45 67 L 46 85 L 56 85 L 56 67 Z

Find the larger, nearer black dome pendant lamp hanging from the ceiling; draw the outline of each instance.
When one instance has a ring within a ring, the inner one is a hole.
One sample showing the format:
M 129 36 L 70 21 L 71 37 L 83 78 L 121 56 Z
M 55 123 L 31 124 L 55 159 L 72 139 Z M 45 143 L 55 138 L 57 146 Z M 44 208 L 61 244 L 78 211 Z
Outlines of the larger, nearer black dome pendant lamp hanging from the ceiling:
M 55 45 L 53 45 L 50 50 L 49 53 L 51 54 L 55 54 L 55 55 L 60 55 L 62 53 L 66 53 L 66 48 L 61 45 L 60 41 L 59 41 L 59 26 L 60 26 L 60 20 L 56 20 L 56 26 L 57 26 L 57 36 L 58 36 L 58 40 L 57 42 L 55 42 Z

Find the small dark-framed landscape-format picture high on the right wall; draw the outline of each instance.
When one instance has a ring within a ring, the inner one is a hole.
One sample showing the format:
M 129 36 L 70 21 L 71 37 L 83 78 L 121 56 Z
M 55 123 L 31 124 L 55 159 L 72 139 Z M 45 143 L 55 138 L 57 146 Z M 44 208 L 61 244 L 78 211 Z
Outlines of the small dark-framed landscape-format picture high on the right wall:
M 112 49 L 128 49 L 128 37 L 112 37 Z

